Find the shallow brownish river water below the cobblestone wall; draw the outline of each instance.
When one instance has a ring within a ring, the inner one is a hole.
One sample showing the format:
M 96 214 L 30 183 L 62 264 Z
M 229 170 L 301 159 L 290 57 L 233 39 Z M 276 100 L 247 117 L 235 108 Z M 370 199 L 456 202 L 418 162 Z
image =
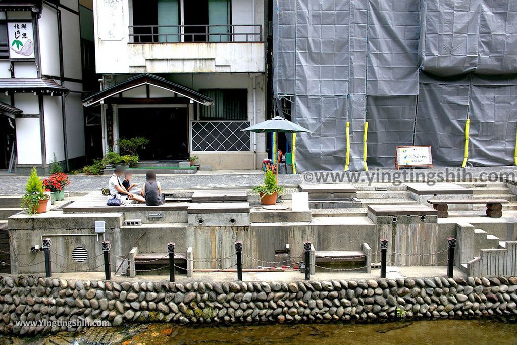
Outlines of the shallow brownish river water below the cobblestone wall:
M 481 320 L 438 320 L 383 324 L 297 324 L 257 326 L 131 325 L 90 328 L 80 334 L 59 333 L 35 338 L 0 337 L 13 344 L 517 344 L 517 324 Z

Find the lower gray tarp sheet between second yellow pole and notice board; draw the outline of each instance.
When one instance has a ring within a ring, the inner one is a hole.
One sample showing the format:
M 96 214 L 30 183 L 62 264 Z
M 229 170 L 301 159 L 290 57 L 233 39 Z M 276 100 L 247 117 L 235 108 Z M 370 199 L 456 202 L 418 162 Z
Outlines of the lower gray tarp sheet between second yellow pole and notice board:
M 368 167 L 394 167 L 397 146 L 413 145 L 416 96 L 368 96 Z

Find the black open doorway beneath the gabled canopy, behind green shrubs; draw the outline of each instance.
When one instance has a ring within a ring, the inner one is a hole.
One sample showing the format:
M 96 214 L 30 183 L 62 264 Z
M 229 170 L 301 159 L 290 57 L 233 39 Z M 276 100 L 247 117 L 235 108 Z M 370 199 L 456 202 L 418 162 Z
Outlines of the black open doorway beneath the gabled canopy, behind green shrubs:
M 118 124 L 120 138 L 149 139 L 149 145 L 139 149 L 141 160 L 189 156 L 187 108 L 119 108 Z

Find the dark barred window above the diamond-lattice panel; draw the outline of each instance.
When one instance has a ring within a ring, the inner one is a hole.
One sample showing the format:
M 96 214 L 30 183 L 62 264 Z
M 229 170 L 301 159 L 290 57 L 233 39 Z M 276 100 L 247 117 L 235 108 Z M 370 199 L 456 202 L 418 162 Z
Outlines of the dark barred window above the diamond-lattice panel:
M 210 107 L 201 107 L 202 120 L 248 119 L 247 89 L 209 89 L 201 93 L 214 101 Z

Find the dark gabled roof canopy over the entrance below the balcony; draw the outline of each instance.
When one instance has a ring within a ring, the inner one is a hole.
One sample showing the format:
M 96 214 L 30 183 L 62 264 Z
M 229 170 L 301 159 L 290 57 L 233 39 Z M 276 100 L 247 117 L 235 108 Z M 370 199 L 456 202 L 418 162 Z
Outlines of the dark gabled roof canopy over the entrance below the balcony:
M 195 102 L 201 103 L 204 106 L 211 106 L 213 103 L 210 98 L 203 96 L 191 88 L 165 80 L 164 78 L 155 76 L 154 74 L 142 73 L 138 76 L 131 77 L 124 82 L 108 87 L 107 89 L 86 97 L 83 99 L 83 106 L 92 106 L 93 104 L 102 102 L 104 99 L 113 97 L 123 92 L 127 92 L 130 89 L 142 85 L 151 85 L 165 89 L 166 91 L 170 91 L 172 93 L 178 94 L 179 96 L 187 97 Z

